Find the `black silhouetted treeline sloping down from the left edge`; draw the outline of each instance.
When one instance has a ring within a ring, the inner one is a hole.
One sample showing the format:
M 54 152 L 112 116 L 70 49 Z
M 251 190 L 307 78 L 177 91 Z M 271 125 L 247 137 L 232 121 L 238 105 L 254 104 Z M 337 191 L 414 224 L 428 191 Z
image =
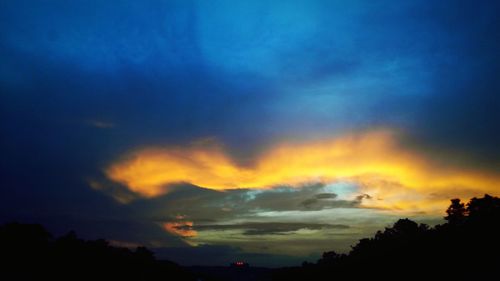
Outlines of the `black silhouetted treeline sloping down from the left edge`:
M 0 280 L 196 279 L 145 247 L 114 247 L 74 232 L 55 239 L 41 225 L 9 223 L 0 226 Z

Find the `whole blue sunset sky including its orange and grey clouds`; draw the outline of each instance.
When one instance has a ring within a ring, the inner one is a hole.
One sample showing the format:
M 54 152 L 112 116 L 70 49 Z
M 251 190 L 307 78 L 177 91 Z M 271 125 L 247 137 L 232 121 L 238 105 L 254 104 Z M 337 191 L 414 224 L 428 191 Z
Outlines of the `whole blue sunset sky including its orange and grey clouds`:
M 298 265 L 500 191 L 494 1 L 0 0 L 0 222 Z

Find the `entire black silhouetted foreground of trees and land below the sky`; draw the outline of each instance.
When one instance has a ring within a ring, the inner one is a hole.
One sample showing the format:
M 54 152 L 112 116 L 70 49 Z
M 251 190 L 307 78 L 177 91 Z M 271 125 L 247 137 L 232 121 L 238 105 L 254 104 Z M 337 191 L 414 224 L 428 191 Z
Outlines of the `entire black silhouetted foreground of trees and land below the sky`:
M 433 228 L 400 219 L 348 254 L 325 252 L 316 263 L 280 269 L 181 267 L 144 247 L 74 232 L 54 238 L 41 225 L 9 223 L 0 226 L 0 280 L 500 280 L 500 199 L 453 199 L 445 219 Z

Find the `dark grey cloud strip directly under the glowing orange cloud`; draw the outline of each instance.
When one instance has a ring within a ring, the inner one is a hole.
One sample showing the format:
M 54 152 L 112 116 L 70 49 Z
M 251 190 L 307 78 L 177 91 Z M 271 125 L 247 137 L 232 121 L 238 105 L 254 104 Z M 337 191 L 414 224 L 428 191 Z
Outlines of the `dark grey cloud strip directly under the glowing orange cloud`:
M 176 215 L 205 224 L 251 216 L 264 211 L 318 211 L 333 208 L 361 208 L 361 201 L 370 199 L 362 194 L 351 200 L 339 199 L 336 193 L 325 192 L 324 184 L 301 187 L 282 186 L 273 189 L 234 189 L 224 192 L 193 185 L 173 186 L 167 195 L 136 198 L 128 204 L 133 212 L 144 214 L 151 220 L 175 220 Z

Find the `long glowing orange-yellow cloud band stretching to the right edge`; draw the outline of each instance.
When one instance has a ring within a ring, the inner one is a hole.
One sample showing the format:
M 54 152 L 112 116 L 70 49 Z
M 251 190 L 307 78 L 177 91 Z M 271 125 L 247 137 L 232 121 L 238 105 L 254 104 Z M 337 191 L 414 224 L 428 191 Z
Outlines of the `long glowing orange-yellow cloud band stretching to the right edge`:
M 364 204 L 384 207 L 391 202 L 401 208 L 418 204 L 419 197 L 429 202 L 432 194 L 445 194 L 433 199 L 441 204 L 446 194 L 475 196 L 495 193 L 500 186 L 498 175 L 437 167 L 431 160 L 401 147 L 394 132 L 378 130 L 280 143 L 259 154 L 251 167 L 235 164 L 217 145 L 146 148 L 111 165 L 106 175 L 144 197 L 165 194 L 169 185 L 180 182 L 225 190 L 349 180 L 359 183 L 360 192 L 382 199 Z

